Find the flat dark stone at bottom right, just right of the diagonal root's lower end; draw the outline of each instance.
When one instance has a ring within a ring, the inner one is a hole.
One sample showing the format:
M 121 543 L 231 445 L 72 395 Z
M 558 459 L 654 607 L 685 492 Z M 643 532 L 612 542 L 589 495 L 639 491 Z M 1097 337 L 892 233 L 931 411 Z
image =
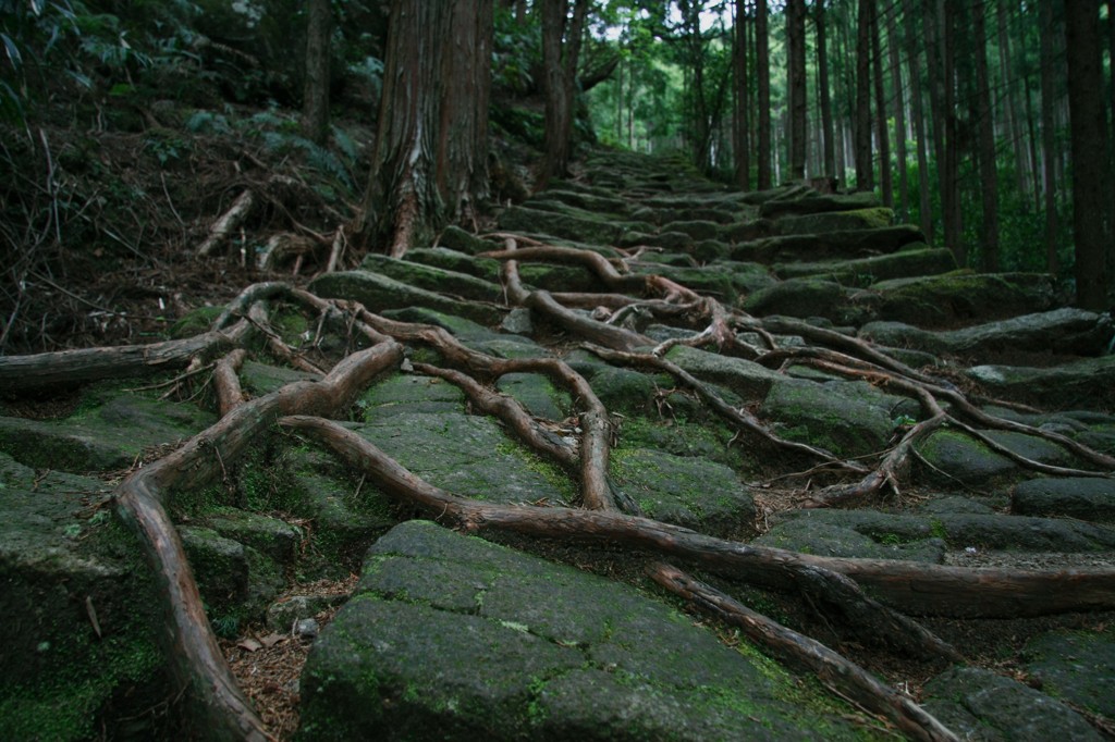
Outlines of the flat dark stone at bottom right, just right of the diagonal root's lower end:
M 962 740 L 1048 742 L 1103 738 L 1080 714 L 1016 680 L 960 667 L 925 685 L 922 705 Z

